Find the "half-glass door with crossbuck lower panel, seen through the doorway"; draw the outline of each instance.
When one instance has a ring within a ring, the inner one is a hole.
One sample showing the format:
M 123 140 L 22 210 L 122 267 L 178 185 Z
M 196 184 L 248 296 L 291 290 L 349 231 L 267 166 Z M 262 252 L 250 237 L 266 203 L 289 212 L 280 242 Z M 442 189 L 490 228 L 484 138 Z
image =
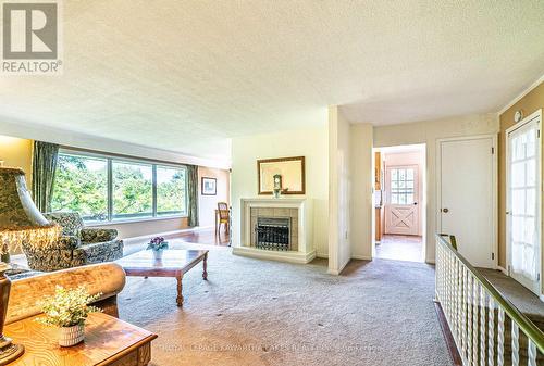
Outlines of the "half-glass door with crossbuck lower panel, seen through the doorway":
M 419 234 L 418 165 L 388 166 L 385 234 Z

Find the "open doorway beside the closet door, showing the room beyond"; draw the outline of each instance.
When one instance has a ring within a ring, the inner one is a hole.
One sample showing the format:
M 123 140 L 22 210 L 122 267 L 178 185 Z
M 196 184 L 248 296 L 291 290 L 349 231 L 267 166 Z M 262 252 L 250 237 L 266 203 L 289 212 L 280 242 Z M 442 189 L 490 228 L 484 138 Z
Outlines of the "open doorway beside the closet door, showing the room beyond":
M 424 262 L 425 146 L 374 149 L 374 256 Z

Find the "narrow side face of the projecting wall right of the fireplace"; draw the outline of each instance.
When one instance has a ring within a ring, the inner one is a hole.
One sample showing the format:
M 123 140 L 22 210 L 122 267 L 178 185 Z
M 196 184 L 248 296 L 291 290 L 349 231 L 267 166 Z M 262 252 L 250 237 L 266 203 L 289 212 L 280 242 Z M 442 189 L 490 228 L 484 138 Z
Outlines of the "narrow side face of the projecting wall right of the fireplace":
M 329 108 L 329 273 L 338 275 L 351 257 L 350 125 Z

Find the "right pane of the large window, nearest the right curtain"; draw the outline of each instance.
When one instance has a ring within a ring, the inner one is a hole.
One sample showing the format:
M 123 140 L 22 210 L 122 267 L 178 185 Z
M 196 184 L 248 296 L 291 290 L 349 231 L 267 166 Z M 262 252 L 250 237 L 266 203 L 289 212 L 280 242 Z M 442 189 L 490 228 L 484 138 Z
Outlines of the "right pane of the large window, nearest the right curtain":
M 157 214 L 185 214 L 185 169 L 157 166 Z

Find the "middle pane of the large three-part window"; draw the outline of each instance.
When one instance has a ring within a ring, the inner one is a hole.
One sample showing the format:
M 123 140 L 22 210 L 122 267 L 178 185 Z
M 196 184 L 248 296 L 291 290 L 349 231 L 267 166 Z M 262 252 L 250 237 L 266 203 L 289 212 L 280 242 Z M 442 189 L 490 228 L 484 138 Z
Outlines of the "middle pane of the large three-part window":
M 152 216 L 152 167 L 112 162 L 113 219 Z

